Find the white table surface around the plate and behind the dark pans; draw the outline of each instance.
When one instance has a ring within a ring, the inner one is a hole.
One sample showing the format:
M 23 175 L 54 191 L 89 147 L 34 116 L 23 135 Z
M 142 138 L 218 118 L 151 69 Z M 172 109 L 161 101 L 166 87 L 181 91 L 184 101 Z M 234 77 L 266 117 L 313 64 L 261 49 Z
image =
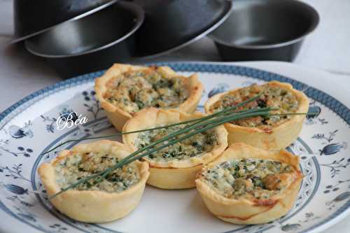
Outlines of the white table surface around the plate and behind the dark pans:
M 331 80 L 350 92 L 350 1 L 303 0 L 318 10 L 321 22 L 304 41 L 295 64 L 328 71 Z M 31 92 L 62 80 L 43 60 L 30 55 L 22 43 L 7 45 L 13 34 L 13 1 L 0 0 L 0 112 Z M 209 38 L 149 60 L 158 61 L 221 61 Z M 260 66 L 258 63 L 248 63 Z M 325 232 L 347 233 L 350 216 Z

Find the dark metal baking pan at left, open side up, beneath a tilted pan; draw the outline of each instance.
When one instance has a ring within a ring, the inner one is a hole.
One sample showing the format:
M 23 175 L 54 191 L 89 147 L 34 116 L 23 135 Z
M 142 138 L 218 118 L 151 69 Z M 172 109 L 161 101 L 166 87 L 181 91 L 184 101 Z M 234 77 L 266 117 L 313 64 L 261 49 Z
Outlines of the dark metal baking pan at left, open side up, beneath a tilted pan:
M 144 21 L 140 6 L 118 1 L 96 13 L 60 24 L 25 41 L 64 78 L 106 69 L 134 55 L 134 33 Z

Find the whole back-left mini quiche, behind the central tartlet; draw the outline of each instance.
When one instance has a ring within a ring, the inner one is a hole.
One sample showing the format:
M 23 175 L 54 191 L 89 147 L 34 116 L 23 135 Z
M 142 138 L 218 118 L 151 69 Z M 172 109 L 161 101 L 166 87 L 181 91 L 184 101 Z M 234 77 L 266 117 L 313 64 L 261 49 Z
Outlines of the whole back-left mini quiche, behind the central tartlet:
M 107 117 L 119 131 L 143 108 L 176 108 L 193 113 L 203 92 L 196 74 L 185 77 L 167 66 L 127 64 L 114 64 L 96 79 L 94 89 Z

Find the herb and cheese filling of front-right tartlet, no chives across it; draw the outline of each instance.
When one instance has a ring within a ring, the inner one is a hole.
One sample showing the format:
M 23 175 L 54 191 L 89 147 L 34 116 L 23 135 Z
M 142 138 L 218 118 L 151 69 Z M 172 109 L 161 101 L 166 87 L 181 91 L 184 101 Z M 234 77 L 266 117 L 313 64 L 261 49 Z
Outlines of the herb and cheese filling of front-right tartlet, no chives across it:
M 294 178 L 290 165 L 260 159 L 222 162 L 201 176 L 211 189 L 232 199 L 269 199 L 288 188 Z

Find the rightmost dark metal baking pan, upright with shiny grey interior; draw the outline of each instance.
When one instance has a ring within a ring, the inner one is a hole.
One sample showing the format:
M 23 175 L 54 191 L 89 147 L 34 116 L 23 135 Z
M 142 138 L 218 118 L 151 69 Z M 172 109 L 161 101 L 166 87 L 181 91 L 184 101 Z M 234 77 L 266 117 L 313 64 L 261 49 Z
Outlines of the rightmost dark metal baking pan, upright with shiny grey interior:
M 212 38 L 225 61 L 279 60 L 291 62 L 319 16 L 296 0 L 233 0 L 228 20 Z

